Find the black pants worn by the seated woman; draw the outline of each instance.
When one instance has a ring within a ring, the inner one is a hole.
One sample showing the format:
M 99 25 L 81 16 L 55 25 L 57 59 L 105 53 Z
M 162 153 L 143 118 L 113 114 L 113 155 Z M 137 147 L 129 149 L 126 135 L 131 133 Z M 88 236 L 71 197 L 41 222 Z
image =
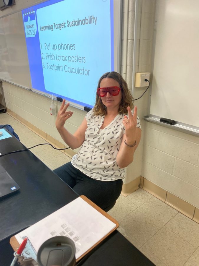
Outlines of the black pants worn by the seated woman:
M 75 168 L 71 162 L 55 169 L 57 174 L 78 195 L 84 195 L 102 209 L 106 209 L 119 197 L 122 180 L 101 181 L 86 176 Z

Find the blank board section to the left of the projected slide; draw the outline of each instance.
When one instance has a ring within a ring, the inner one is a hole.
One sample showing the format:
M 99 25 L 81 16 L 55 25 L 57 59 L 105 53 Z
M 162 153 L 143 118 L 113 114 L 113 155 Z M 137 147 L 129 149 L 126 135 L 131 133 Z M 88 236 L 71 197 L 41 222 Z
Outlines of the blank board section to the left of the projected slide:
M 22 16 L 0 18 L 0 79 L 31 88 Z

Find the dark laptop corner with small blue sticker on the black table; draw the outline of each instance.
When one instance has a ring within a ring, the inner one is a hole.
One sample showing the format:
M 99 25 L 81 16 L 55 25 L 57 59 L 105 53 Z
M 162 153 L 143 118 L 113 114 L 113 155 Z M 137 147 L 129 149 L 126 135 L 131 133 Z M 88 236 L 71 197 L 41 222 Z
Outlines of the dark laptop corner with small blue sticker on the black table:
M 9 173 L 1 166 L 0 164 L 0 198 L 15 191 L 19 190 L 20 187 L 17 183 L 11 178 Z

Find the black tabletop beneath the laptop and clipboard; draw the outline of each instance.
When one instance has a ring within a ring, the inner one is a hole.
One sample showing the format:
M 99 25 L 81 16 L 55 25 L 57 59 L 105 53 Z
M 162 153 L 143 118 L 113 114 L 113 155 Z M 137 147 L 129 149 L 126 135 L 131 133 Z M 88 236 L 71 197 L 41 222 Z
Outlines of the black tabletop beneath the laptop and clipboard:
M 0 153 L 26 148 L 15 137 L 0 140 Z M 1 165 L 20 186 L 0 200 L 0 265 L 10 265 L 10 237 L 78 197 L 31 151 L 0 157 Z M 118 231 L 112 233 L 78 265 L 154 265 Z

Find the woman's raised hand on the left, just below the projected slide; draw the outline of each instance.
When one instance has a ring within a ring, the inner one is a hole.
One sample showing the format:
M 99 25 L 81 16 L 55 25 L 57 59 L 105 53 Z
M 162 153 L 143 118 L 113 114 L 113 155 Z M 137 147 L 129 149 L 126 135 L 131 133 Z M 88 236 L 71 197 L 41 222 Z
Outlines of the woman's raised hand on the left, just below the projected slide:
M 71 111 L 67 111 L 67 108 L 68 108 L 68 106 L 69 106 L 69 103 L 67 103 L 67 104 L 64 106 L 65 101 L 66 101 L 66 100 L 63 99 L 63 102 L 62 102 L 62 104 L 61 104 L 61 106 L 60 106 L 60 110 L 59 110 L 58 113 L 57 113 L 57 119 L 56 119 L 56 121 L 55 121 L 55 126 L 56 126 L 57 129 L 61 129 L 61 128 L 64 126 L 65 121 L 66 121 L 67 119 L 69 119 L 69 118 L 73 115 L 73 112 L 71 112 Z

